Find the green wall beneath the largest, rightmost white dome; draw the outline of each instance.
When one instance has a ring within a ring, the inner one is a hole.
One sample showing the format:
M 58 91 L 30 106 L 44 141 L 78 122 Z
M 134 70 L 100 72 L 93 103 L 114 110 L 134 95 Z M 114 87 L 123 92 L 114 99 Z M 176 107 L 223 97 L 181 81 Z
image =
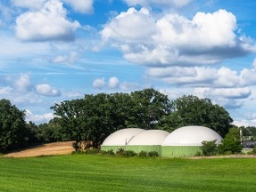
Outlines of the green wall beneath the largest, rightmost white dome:
M 200 146 L 162 146 L 162 157 L 185 157 L 195 156 L 196 153 L 202 152 Z

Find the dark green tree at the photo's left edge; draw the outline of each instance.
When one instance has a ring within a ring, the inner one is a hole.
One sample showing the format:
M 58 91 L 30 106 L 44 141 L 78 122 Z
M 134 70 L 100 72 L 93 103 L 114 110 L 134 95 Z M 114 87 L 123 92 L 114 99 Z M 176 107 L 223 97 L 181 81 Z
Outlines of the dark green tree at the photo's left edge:
M 9 100 L 0 100 L 0 152 L 21 148 L 29 141 L 25 111 Z

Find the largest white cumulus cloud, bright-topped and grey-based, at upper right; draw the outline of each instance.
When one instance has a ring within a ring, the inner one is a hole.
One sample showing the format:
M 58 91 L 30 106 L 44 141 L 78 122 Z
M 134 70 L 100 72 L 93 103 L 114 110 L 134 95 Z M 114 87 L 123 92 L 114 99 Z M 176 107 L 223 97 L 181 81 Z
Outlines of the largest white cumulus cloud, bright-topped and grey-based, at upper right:
M 226 10 L 198 12 L 189 20 L 178 14 L 155 17 L 145 8 L 129 8 L 105 24 L 101 35 L 103 42 L 120 49 L 130 62 L 187 67 L 254 52 L 255 44 L 236 36 L 236 29 L 235 15 Z

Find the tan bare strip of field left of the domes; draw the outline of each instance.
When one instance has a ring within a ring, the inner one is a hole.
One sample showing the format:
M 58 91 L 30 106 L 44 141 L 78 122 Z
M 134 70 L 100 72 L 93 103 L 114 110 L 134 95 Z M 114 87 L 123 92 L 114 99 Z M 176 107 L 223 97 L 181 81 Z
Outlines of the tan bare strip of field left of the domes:
M 72 142 L 54 142 L 35 148 L 28 148 L 19 152 L 5 155 L 4 157 L 29 157 L 29 156 L 57 156 L 71 154 L 74 151 Z

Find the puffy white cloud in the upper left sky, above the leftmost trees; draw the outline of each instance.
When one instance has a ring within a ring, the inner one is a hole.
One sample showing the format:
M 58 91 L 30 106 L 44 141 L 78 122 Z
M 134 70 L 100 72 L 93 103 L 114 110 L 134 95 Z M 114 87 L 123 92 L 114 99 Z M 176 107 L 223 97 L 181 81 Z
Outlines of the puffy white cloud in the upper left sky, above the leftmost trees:
M 60 1 L 49 1 L 41 10 L 25 12 L 16 19 L 16 36 L 24 41 L 73 40 L 80 25 L 66 16 Z

